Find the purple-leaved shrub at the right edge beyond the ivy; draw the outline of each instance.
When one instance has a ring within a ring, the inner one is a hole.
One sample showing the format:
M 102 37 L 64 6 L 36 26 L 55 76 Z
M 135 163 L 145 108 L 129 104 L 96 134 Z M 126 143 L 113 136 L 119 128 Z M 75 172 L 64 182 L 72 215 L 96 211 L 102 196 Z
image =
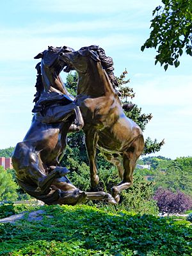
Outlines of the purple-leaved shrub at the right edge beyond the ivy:
M 173 193 L 168 189 L 159 188 L 154 195 L 159 211 L 162 213 L 181 213 L 191 209 L 192 199 L 181 191 Z

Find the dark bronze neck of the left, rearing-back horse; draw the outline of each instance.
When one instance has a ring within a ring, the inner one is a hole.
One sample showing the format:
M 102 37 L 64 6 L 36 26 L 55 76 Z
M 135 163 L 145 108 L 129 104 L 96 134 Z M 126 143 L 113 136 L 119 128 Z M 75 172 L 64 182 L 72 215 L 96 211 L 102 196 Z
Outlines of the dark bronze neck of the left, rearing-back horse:
M 54 68 L 47 68 L 42 64 L 42 82 L 45 92 L 58 92 L 68 95 L 60 74 L 56 74 Z

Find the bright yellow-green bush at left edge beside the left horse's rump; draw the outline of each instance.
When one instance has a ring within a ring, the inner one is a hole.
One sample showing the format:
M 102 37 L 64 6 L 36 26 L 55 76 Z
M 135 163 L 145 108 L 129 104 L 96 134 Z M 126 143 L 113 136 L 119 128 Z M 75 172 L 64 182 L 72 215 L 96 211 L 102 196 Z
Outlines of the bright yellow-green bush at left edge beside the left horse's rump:
M 6 172 L 0 166 L 0 201 L 17 200 L 17 184 L 14 182 L 12 174 Z

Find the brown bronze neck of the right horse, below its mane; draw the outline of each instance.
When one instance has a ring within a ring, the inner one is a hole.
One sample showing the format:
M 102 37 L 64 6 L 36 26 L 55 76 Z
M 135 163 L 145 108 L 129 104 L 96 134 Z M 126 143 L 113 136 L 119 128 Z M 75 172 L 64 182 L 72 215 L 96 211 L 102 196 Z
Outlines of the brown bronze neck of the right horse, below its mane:
M 108 74 L 103 70 L 100 62 L 93 62 L 88 72 L 79 73 L 79 83 L 77 94 L 86 94 L 91 97 L 100 97 L 104 95 L 115 95 L 115 90 L 109 81 Z

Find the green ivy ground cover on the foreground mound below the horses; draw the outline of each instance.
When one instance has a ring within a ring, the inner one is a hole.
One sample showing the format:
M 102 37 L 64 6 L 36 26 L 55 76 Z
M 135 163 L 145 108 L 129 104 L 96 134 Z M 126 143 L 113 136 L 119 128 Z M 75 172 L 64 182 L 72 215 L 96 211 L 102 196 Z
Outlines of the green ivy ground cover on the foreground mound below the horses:
M 41 209 L 42 221 L 0 223 L 0 255 L 191 255 L 186 223 L 86 205 Z

